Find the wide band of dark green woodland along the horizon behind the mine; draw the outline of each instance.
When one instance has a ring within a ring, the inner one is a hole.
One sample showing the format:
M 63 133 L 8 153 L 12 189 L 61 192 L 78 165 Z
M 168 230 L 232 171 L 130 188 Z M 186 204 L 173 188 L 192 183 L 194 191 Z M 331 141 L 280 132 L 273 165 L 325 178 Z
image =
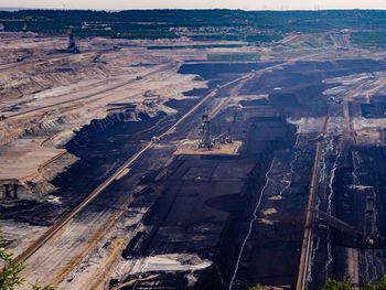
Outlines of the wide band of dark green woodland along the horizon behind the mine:
M 119 12 L 92 10 L 0 11 L 6 31 L 32 31 L 122 39 L 175 39 L 197 41 L 247 41 L 271 43 L 286 34 L 324 33 L 350 29 L 358 45 L 384 47 L 386 11 L 242 11 L 242 10 L 130 10 Z M 368 32 L 368 33 L 367 33 Z M 371 35 L 367 43 L 366 36 Z M 312 45 L 312 43 L 311 43 Z

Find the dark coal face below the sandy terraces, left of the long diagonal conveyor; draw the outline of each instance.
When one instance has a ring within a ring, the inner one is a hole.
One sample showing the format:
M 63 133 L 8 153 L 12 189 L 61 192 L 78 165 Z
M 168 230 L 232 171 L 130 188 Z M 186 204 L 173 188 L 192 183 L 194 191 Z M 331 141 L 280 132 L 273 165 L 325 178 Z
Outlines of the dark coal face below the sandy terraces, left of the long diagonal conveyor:
M 152 136 L 162 132 L 174 118 L 195 101 L 185 99 L 165 103 L 167 106 L 170 104 L 171 107 L 181 109 L 181 112 L 172 116 L 159 112 L 149 117 L 144 112 L 131 109 L 124 112 L 110 111 L 106 118 L 93 120 L 82 127 L 64 144 L 67 153 L 57 159 L 60 163 L 71 161 L 68 167 L 57 175 L 52 175 L 51 169 L 56 165 L 50 164 L 40 172 L 50 179 L 50 183 L 26 184 L 36 192 L 50 190 L 52 193 L 49 202 L 40 203 L 36 198 L 31 200 L 31 193 L 25 192 L 26 198 L 13 198 L 10 203 L 0 205 L 1 218 L 13 218 L 36 225 L 51 224 L 137 152 L 141 147 L 141 140 L 150 140 Z M 39 130 L 30 133 L 36 135 Z M 24 187 L 25 185 L 19 186 L 18 192 Z M 54 202 L 50 202 L 51 200 Z

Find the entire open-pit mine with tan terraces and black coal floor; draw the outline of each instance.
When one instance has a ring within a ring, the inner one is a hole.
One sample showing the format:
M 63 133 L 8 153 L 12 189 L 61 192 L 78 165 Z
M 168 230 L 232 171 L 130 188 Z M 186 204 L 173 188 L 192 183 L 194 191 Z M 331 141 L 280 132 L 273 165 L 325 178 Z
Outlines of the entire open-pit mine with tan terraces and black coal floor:
M 382 280 L 386 53 L 352 33 L 0 32 L 0 228 L 20 289 Z

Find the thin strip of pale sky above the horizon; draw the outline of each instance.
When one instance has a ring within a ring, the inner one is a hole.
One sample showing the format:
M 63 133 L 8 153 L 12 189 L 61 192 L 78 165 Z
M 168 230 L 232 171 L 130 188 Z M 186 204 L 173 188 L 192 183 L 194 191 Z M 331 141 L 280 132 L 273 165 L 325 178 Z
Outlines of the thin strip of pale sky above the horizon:
M 45 9 L 386 9 L 386 0 L 0 0 L 2 8 Z

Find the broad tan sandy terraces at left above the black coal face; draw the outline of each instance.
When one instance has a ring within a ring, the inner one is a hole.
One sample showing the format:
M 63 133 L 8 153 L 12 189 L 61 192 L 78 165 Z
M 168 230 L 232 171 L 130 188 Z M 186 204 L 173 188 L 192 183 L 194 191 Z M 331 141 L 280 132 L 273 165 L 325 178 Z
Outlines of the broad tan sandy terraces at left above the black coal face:
M 65 47 L 65 39 L 32 36 L 15 34 L 0 44 L 8 52 L 0 57 L 0 112 L 6 116 L 0 121 L 0 182 L 37 182 L 39 169 L 63 153 L 56 148 L 68 141 L 73 131 L 105 118 L 108 110 L 131 104 L 137 112 L 150 116 L 174 114 L 165 101 L 206 86 L 194 75 L 176 73 L 181 61 L 202 57 L 194 50 L 175 54 L 148 51 L 146 42 L 106 50 L 100 47 L 103 40 L 96 39 L 82 41 L 84 52 L 73 55 L 55 52 Z M 23 62 L 10 58 L 20 54 L 25 56 Z M 63 169 L 57 168 L 56 173 Z M 49 193 L 50 189 L 45 196 Z

